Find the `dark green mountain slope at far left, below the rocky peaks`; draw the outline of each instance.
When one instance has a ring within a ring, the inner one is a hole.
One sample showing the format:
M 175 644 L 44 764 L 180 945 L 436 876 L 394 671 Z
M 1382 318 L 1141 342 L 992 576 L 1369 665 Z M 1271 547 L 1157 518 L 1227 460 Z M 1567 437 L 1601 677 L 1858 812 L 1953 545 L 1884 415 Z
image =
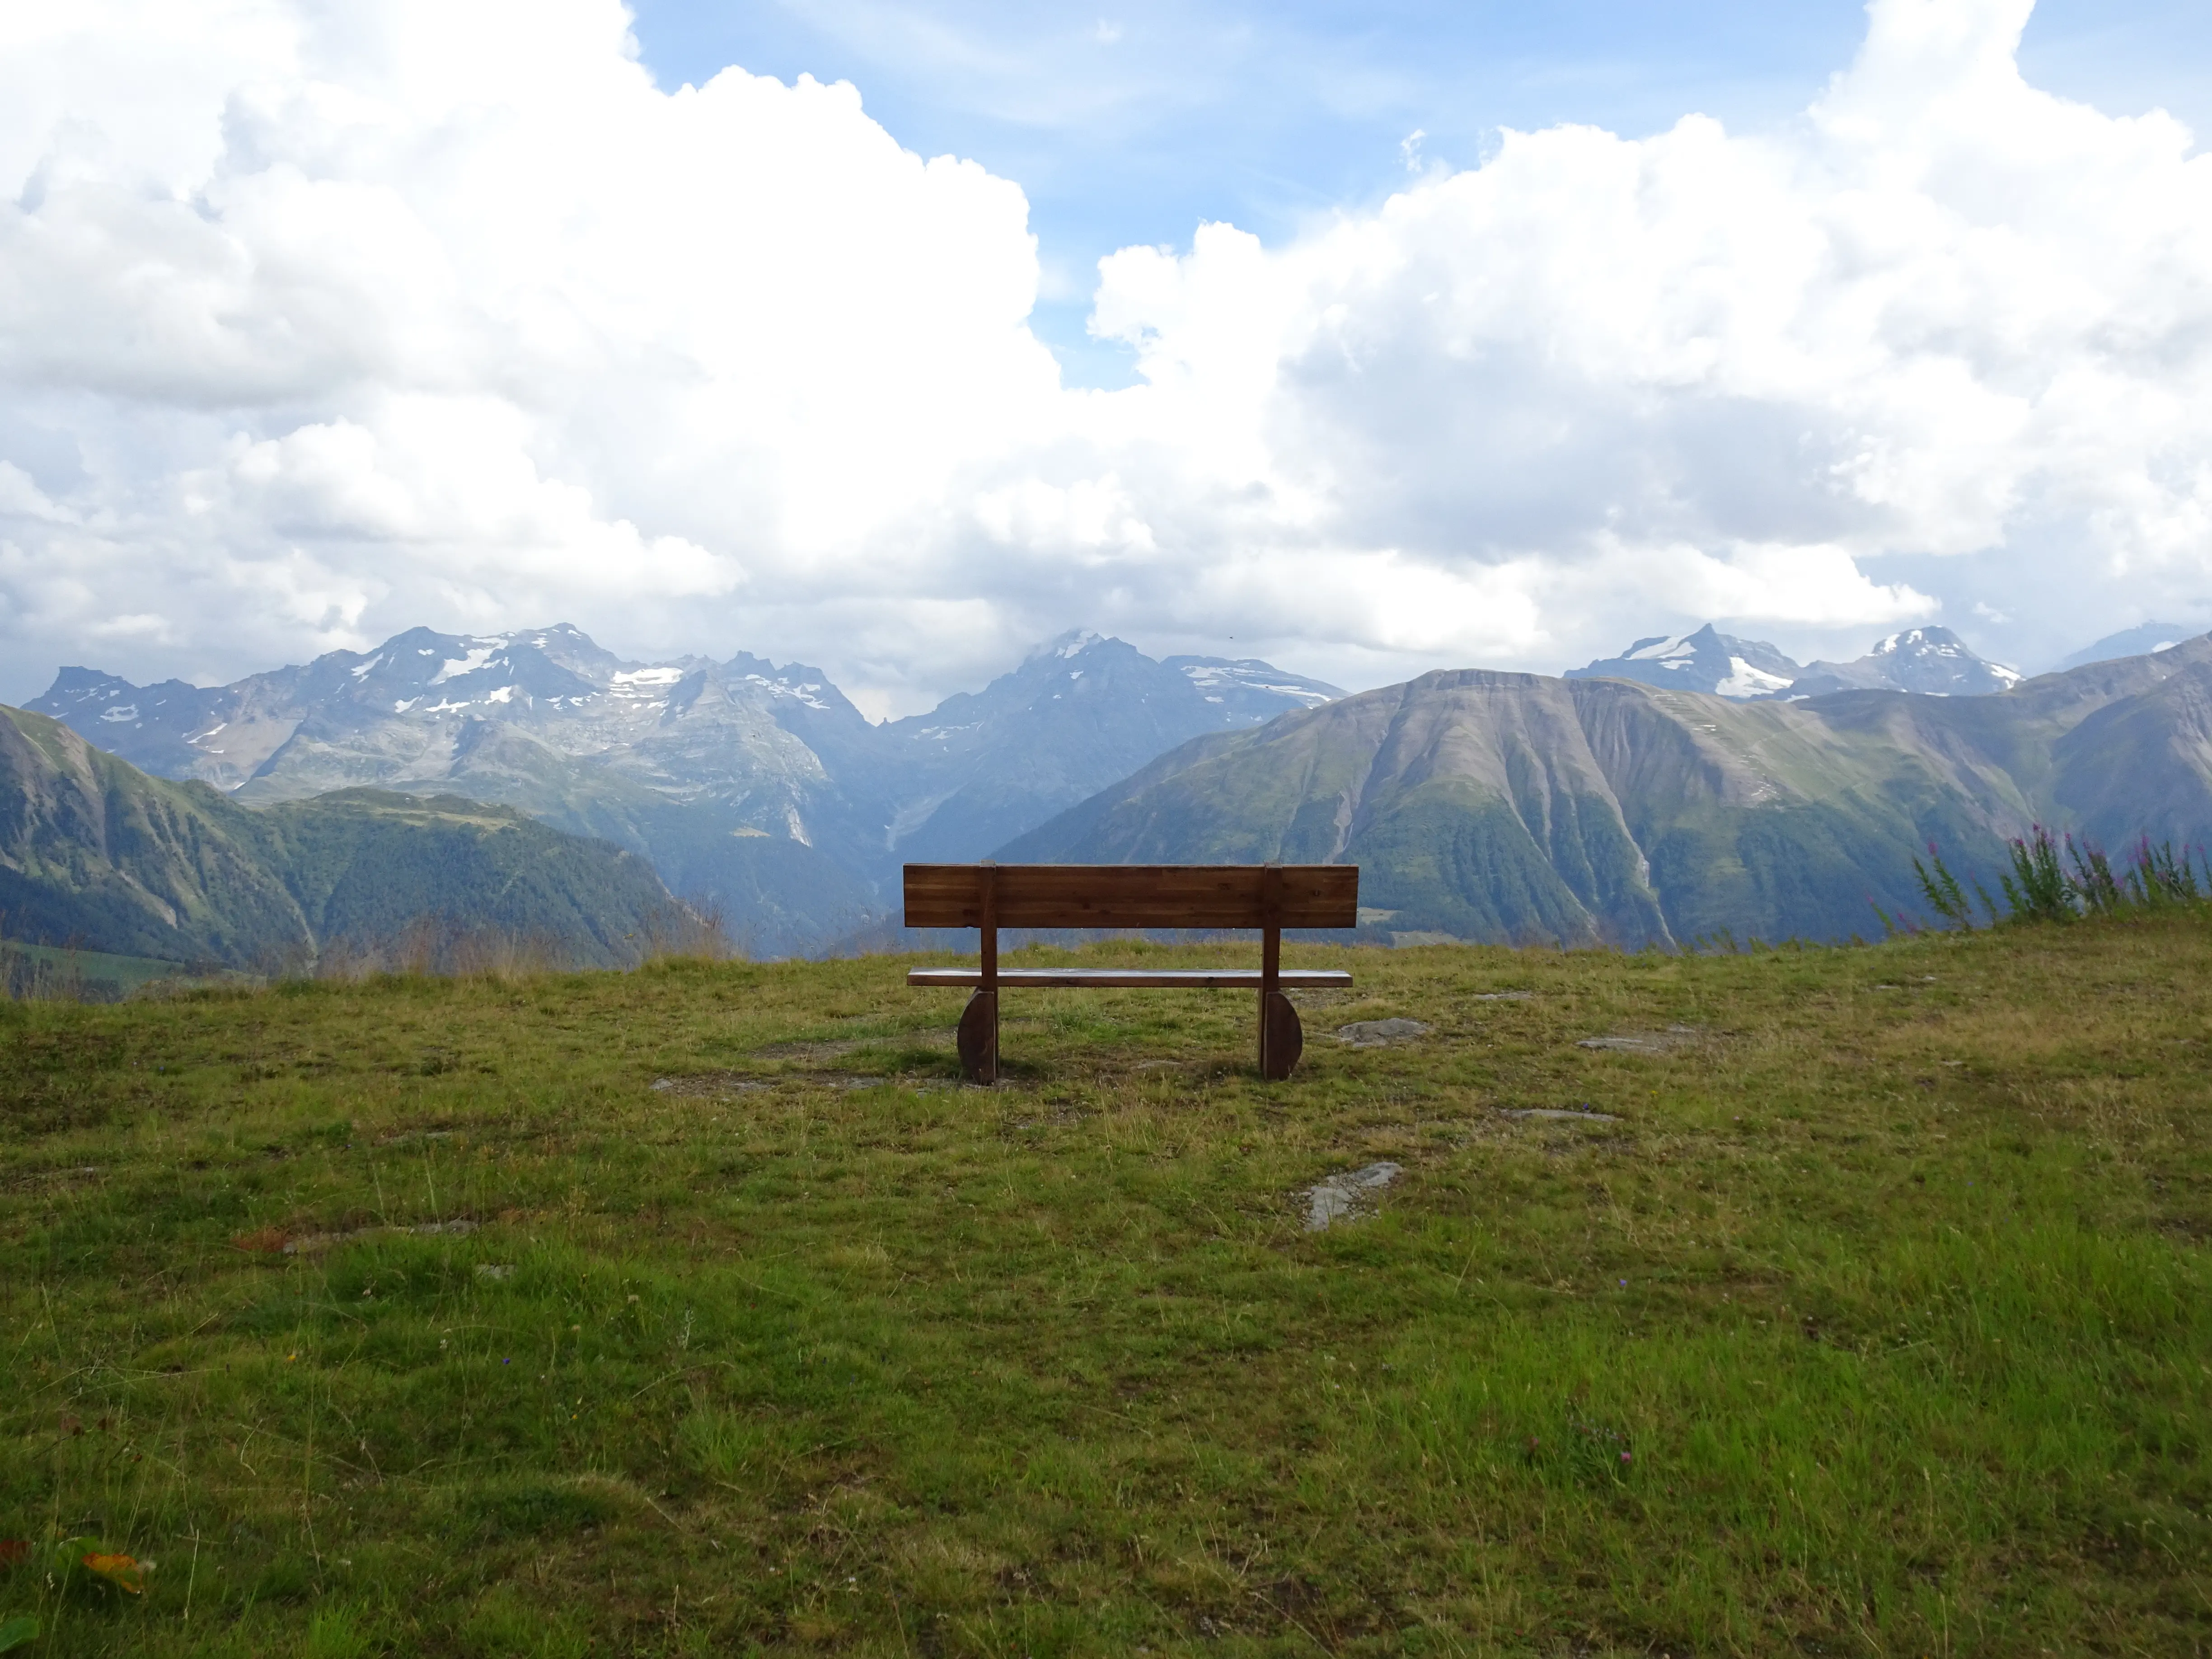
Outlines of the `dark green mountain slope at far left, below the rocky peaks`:
M 635 854 L 511 807 L 345 790 L 252 812 L 0 708 L 9 938 L 261 967 L 438 916 L 613 964 L 635 958 L 666 905 Z

